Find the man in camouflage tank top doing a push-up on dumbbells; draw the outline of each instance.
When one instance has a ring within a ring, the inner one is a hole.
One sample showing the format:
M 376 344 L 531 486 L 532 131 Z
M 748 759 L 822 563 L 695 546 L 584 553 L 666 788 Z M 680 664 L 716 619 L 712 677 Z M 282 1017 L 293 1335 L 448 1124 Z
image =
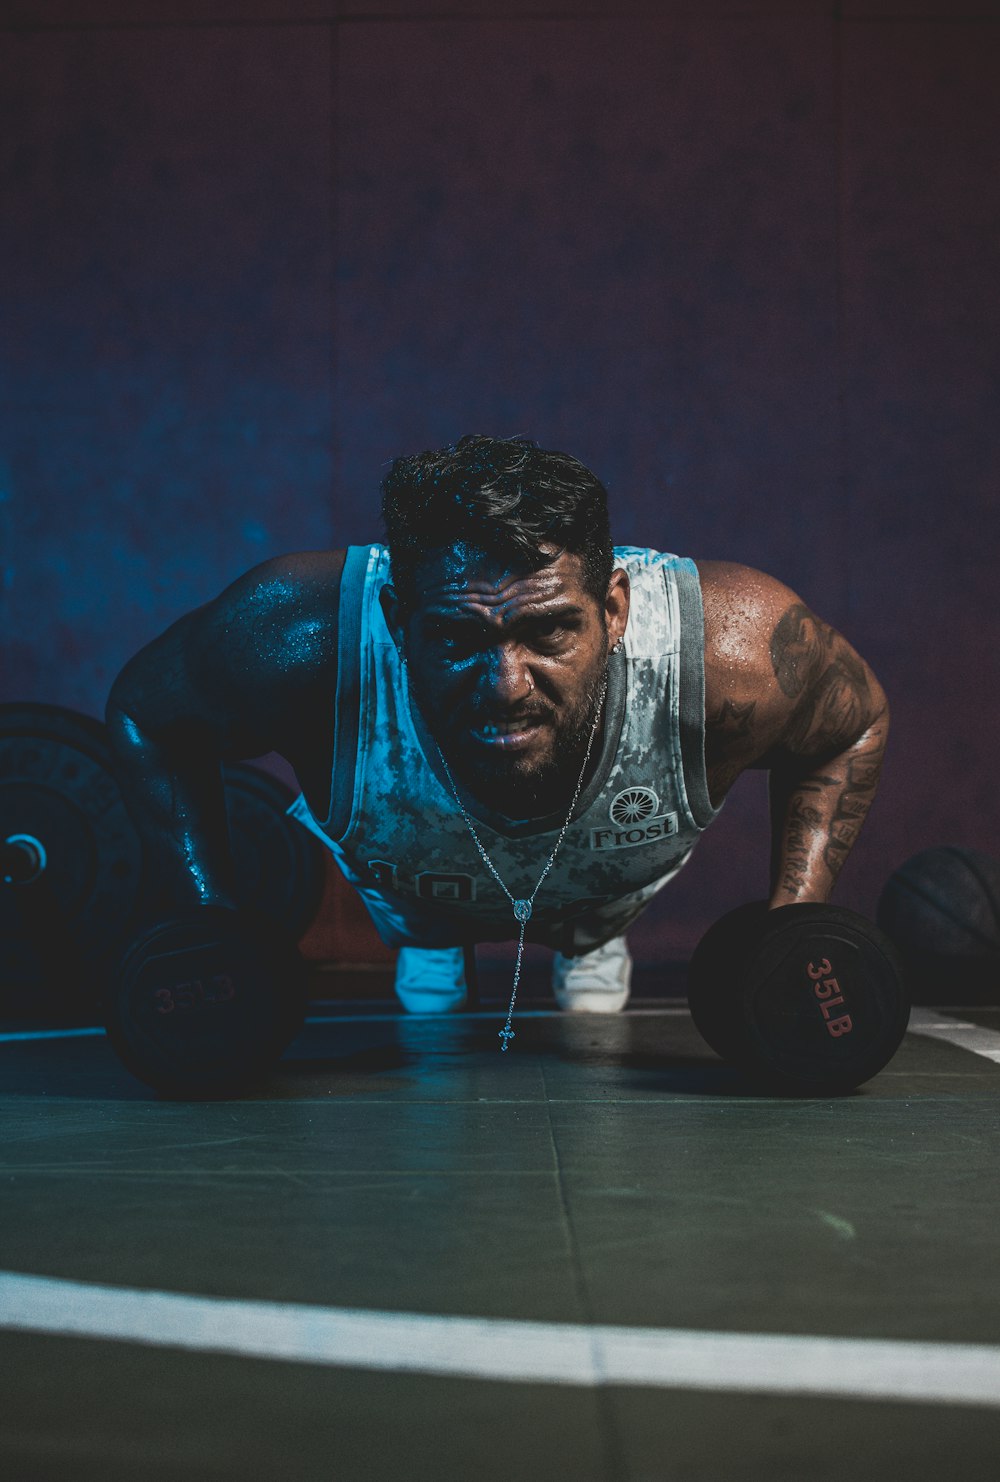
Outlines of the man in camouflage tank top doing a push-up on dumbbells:
M 461 1006 L 462 947 L 508 938 L 554 948 L 563 1008 L 622 1008 L 625 931 L 747 768 L 769 772 L 770 907 L 830 898 L 889 707 L 794 591 L 612 545 L 597 477 L 520 437 L 397 458 L 382 495 L 384 545 L 255 566 L 116 680 L 176 904 L 233 904 L 219 763 L 267 751 L 401 948 L 410 1009 Z

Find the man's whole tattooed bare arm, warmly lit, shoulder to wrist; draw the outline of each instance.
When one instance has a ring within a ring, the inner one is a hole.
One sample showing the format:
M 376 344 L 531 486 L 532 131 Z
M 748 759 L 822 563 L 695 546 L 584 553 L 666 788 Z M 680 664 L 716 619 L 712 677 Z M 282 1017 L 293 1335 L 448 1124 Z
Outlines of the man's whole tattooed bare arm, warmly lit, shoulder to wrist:
M 865 820 L 889 734 L 881 685 L 772 576 L 698 562 L 713 802 L 747 768 L 770 790 L 770 904 L 825 901 Z

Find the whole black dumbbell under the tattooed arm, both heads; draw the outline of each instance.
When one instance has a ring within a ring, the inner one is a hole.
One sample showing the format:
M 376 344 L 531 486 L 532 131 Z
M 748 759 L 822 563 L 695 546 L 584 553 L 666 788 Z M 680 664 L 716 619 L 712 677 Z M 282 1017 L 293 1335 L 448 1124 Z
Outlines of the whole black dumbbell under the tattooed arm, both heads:
M 836 1095 L 895 1055 L 910 996 L 889 938 L 840 906 L 756 901 L 690 960 L 689 1008 L 711 1048 L 761 1086 Z

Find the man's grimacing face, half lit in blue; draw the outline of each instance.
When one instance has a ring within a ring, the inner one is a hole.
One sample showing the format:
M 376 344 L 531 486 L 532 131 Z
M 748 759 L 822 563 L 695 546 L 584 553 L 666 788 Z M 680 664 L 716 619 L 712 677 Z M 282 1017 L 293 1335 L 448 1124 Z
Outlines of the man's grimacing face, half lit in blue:
M 567 802 L 607 652 L 625 628 L 625 574 L 613 574 L 601 606 L 584 588 L 579 556 L 529 571 L 459 544 L 425 562 L 419 590 L 419 608 L 396 631 L 455 777 L 511 817 Z M 391 600 L 387 615 L 393 625 Z

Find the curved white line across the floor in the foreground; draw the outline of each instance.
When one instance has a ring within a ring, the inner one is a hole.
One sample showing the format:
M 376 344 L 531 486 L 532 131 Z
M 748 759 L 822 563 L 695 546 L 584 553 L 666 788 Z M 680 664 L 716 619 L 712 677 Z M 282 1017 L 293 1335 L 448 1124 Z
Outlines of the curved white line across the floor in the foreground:
M 0 1328 L 336 1368 L 1000 1409 L 1000 1347 L 228 1301 L 0 1272 Z

